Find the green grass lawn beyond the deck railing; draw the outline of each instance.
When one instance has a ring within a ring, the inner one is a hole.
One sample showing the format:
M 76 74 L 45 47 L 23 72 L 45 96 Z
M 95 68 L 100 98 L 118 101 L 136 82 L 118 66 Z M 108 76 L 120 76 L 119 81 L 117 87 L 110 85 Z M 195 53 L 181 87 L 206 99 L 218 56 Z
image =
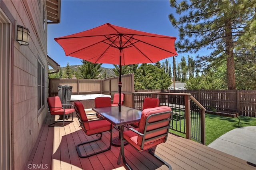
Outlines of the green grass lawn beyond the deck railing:
M 175 121 L 174 121 L 175 122 Z M 177 124 L 183 123 L 178 121 Z M 205 114 L 206 145 L 210 144 L 226 132 L 239 128 L 256 126 L 256 118 L 239 116 L 236 118 Z M 170 130 L 171 133 L 185 137 L 185 134 Z

